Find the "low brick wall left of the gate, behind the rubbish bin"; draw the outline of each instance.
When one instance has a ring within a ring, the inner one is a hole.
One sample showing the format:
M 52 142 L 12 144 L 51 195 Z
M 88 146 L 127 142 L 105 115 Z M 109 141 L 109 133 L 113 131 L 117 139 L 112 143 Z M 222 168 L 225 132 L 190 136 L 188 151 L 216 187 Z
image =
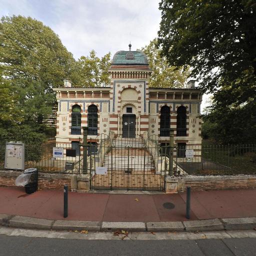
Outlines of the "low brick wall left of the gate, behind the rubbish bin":
M 0 170 L 0 186 L 16 187 L 15 179 L 21 173 L 21 171 Z M 64 184 L 68 185 L 68 190 L 71 189 L 70 174 L 38 173 L 39 189 L 63 189 Z

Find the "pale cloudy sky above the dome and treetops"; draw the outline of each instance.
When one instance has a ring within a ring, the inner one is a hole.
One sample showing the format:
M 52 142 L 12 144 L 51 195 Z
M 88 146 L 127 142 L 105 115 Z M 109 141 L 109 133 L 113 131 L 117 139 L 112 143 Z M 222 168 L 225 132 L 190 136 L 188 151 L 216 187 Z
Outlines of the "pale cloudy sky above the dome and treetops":
M 94 49 L 141 48 L 157 36 L 159 0 L 0 0 L 0 16 L 30 16 L 49 26 L 77 59 Z M 204 106 L 205 97 L 203 97 Z

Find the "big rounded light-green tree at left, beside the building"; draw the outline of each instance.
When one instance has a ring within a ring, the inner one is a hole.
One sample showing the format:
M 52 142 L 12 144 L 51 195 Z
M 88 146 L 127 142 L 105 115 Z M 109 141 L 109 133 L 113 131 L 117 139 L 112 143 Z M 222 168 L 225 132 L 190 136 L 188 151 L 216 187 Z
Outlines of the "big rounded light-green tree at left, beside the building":
M 17 96 L 25 123 L 42 123 L 55 103 L 52 88 L 70 78 L 73 67 L 72 54 L 42 22 L 20 15 L 1 18 L 1 84 Z

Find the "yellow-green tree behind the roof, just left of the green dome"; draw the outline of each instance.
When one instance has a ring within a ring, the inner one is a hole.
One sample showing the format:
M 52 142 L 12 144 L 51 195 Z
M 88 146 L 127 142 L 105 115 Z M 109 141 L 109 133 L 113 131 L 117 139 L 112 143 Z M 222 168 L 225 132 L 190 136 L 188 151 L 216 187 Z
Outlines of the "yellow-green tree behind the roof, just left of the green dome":
M 80 80 L 79 87 L 105 87 L 110 85 L 107 72 L 110 67 L 110 52 L 99 58 L 91 50 L 89 56 L 81 56 L 77 61 Z

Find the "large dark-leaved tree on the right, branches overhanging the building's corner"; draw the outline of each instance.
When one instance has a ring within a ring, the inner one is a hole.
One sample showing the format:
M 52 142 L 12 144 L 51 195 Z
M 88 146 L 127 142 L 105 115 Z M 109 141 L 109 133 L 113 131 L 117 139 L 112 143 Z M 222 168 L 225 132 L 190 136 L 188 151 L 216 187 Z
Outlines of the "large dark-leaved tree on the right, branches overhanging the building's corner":
M 159 9 L 162 54 L 171 65 L 190 65 L 200 87 L 213 93 L 204 116 L 211 135 L 222 142 L 255 141 L 255 2 L 161 0 Z

